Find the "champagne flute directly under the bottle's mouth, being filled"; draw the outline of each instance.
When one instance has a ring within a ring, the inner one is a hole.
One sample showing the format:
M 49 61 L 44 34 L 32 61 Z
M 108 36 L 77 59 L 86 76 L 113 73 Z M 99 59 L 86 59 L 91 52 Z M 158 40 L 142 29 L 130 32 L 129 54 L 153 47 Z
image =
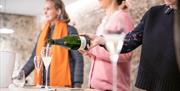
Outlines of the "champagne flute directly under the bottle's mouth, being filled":
M 48 88 L 48 69 L 49 69 L 49 65 L 51 63 L 51 58 L 52 58 L 52 50 L 51 47 L 47 46 L 47 47 L 43 47 L 41 49 L 41 57 L 46 69 L 46 85 L 45 88 Z

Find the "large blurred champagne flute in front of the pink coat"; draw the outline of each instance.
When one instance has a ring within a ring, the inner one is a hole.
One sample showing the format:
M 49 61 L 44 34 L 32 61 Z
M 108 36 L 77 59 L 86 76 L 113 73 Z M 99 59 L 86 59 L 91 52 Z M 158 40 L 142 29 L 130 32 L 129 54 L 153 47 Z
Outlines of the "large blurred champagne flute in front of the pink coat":
M 117 61 L 119 58 L 120 51 L 123 46 L 123 40 L 125 33 L 109 33 L 104 34 L 105 46 L 110 52 L 110 59 L 112 62 L 112 74 L 113 74 L 113 91 L 117 91 Z

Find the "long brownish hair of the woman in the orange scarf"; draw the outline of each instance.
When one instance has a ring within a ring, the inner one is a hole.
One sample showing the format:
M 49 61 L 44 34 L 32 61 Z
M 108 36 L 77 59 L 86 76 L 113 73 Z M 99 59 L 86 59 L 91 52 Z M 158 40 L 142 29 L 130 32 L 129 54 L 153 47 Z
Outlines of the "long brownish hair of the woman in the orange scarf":
M 59 9 L 61 10 L 61 14 L 57 17 L 59 20 L 62 20 L 66 23 L 70 22 L 69 15 L 66 12 L 65 5 L 62 0 L 46 0 L 46 1 L 53 2 L 55 4 L 55 8 L 57 10 Z

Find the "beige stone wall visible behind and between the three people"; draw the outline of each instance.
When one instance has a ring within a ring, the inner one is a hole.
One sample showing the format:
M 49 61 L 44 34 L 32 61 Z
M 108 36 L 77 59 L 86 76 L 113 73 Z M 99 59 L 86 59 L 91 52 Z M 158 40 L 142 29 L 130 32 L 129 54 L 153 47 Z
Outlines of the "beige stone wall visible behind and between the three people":
M 162 0 L 128 0 L 130 14 L 135 22 L 138 23 L 142 15 L 151 6 L 161 4 Z M 77 0 L 72 4 L 67 5 L 68 13 L 70 14 L 72 24 L 75 24 L 80 33 L 94 33 L 96 27 L 100 23 L 104 12 L 99 9 L 97 0 Z M 23 16 L 14 14 L 0 13 L 0 26 L 13 28 L 13 34 L 0 34 L 0 51 L 16 52 L 16 69 L 24 65 L 31 55 L 37 36 L 40 32 L 40 19 L 34 16 Z M 132 91 L 141 91 L 134 87 L 136 78 L 140 47 L 134 51 L 132 59 Z M 85 58 L 85 82 L 83 87 L 87 87 L 87 79 L 89 73 L 90 61 Z M 32 76 L 30 76 L 32 77 Z M 32 79 L 32 78 L 30 78 Z

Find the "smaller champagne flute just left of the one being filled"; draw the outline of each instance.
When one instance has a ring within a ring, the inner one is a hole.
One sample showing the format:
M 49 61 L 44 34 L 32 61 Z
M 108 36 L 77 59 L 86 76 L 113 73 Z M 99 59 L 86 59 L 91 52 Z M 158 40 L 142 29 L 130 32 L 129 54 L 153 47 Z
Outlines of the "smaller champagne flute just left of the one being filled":
M 35 69 L 37 71 L 37 76 L 40 79 L 40 70 L 41 70 L 41 67 L 42 67 L 41 57 L 39 57 L 39 56 L 34 57 L 34 67 L 35 67 Z M 40 84 L 36 83 L 36 87 L 40 87 Z

